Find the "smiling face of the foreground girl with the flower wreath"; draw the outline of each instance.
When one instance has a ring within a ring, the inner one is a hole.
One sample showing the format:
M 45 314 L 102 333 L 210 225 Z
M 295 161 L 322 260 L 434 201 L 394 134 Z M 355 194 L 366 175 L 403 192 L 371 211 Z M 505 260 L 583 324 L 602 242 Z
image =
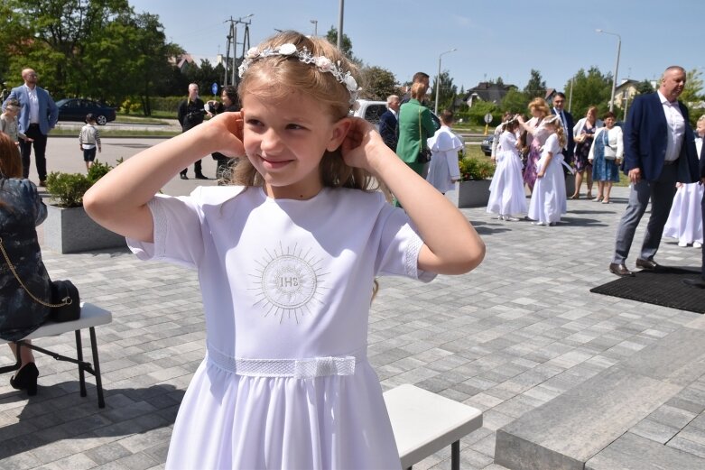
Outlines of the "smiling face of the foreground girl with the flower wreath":
M 298 92 L 273 100 L 242 97 L 247 158 L 264 178 L 270 198 L 308 199 L 322 189 L 319 164 L 348 133 L 348 119 L 333 122 L 320 101 Z

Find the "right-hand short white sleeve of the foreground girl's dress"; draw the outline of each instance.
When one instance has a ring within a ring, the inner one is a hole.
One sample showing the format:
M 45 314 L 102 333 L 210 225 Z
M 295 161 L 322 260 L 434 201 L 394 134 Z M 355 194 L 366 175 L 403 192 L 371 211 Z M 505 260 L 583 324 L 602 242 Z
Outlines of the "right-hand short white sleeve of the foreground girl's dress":
M 382 198 L 382 196 L 380 196 Z M 385 203 L 380 211 L 381 239 L 376 259 L 377 275 L 406 276 L 429 282 L 435 272 L 419 269 L 419 253 L 423 246 L 421 237 L 403 209 Z

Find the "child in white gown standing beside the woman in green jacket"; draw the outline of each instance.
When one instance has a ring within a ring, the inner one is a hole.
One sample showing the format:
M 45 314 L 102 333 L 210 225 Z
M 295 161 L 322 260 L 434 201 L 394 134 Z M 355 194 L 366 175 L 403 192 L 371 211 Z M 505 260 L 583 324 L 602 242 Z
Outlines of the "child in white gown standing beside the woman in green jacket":
M 441 128 L 426 141 L 431 149 L 431 163 L 426 180 L 433 188 L 441 191 L 441 194 L 445 194 L 446 191 L 455 189 L 456 181 L 460 180 L 458 152 L 463 150 L 463 143 L 450 130 L 454 121 L 453 112 L 446 109 L 439 117 Z

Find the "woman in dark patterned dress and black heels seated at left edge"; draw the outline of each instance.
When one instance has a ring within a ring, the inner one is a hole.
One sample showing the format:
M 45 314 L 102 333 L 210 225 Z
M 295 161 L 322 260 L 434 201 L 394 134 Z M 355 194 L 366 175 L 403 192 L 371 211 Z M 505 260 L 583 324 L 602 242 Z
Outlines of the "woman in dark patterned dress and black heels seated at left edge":
M 22 180 L 22 161 L 16 144 L 0 133 L 0 337 L 18 341 L 42 326 L 49 307 L 32 300 L 17 279 L 39 299 L 51 299 L 51 281 L 42 263 L 36 226 L 47 207 L 30 180 Z M 12 262 L 9 269 L 6 259 Z M 16 277 L 15 277 L 16 273 Z M 27 341 L 29 342 L 29 341 Z M 16 357 L 17 347 L 10 343 Z M 21 367 L 10 379 L 17 390 L 37 393 L 39 371 L 32 349 L 20 348 Z

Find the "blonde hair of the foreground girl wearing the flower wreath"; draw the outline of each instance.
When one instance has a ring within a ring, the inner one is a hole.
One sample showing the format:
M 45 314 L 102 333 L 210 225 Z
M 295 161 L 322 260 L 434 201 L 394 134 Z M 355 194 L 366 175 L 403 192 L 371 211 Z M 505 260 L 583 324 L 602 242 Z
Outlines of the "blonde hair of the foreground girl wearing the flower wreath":
M 325 57 L 339 69 L 349 71 L 359 82 L 357 67 L 338 48 L 325 38 L 306 37 L 299 32 L 280 32 L 257 46 L 258 51 L 276 49 L 283 44 L 293 44 L 297 51 L 306 48 L 313 56 Z M 295 54 L 269 55 L 253 60 L 237 88 L 240 100 L 255 95 L 267 100 L 285 100 L 292 91 L 302 93 L 322 103 L 329 110 L 334 122 L 350 113 L 350 92 L 331 73 L 322 71 L 316 64 L 302 62 Z M 376 190 L 379 188 L 370 173 L 352 168 L 343 161 L 340 150 L 325 152 L 320 161 L 320 180 L 330 188 Z M 233 170 L 232 183 L 242 186 L 263 186 L 264 179 L 246 158 L 239 159 Z

